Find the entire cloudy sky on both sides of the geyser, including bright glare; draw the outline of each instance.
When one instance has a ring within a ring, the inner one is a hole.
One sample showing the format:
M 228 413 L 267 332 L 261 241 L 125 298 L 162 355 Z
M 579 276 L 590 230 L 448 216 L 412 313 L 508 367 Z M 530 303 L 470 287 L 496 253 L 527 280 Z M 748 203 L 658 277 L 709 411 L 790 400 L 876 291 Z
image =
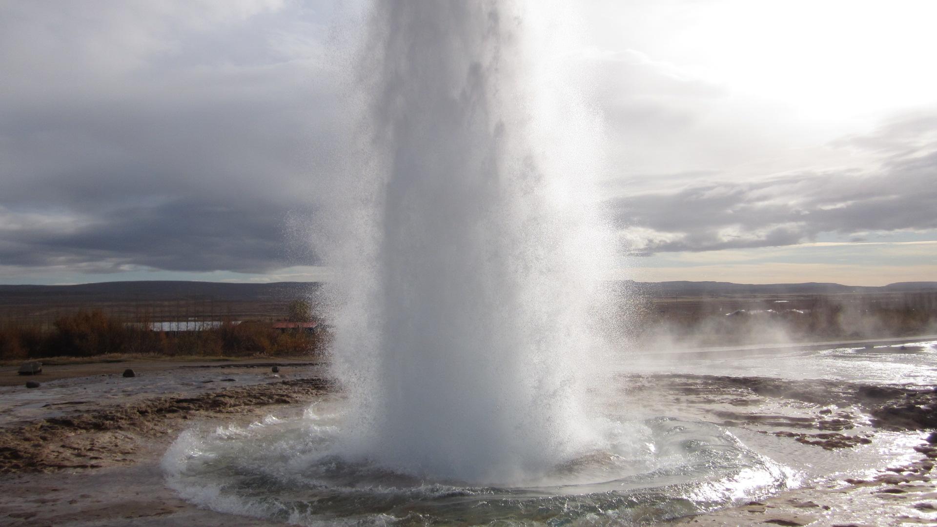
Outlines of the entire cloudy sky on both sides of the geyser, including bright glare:
M 937 280 L 937 3 L 571 5 L 614 276 Z M 328 279 L 355 6 L 0 0 L 0 283 Z

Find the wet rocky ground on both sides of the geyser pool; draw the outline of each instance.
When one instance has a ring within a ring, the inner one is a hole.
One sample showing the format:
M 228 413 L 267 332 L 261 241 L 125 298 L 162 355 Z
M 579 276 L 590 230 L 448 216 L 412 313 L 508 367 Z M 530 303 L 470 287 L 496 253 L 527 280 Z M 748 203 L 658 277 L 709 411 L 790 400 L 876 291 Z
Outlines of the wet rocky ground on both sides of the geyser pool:
M 811 479 L 759 502 L 673 520 L 677 525 L 937 524 L 932 387 L 762 377 L 656 374 L 622 378 L 621 400 L 647 415 L 721 424 L 795 453 L 852 456 L 903 438 L 872 470 Z M 28 392 L 27 392 L 28 390 Z M 5 525 L 267 525 L 200 509 L 166 489 L 159 459 L 196 424 L 289 417 L 327 397 L 316 365 L 154 370 L 63 377 L 0 388 L 0 523 Z M 27 397 L 28 394 L 28 397 Z M 897 434 L 897 435 L 896 435 Z M 796 450 L 800 449 L 800 450 Z

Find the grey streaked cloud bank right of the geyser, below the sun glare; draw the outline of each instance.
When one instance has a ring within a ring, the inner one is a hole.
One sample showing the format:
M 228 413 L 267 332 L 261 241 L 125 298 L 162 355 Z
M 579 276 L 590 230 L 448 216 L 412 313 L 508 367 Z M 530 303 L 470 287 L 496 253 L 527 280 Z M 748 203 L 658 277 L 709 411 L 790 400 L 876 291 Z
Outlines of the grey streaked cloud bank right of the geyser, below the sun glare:
M 696 182 L 613 200 L 632 249 L 716 250 L 793 245 L 820 233 L 937 229 L 937 118 L 895 121 L 837 142 L 881 156 L 867 171 L 789 173 Z

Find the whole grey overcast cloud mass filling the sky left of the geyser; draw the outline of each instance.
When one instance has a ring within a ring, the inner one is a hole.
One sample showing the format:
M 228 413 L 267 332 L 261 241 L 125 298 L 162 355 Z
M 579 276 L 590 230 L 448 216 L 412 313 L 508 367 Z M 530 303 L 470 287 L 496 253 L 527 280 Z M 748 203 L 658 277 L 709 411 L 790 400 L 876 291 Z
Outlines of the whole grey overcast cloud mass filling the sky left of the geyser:
M 266 0 L 0 4 L 0 266 L 311 263 L 284 245 L 334 172 L 322 16 Z

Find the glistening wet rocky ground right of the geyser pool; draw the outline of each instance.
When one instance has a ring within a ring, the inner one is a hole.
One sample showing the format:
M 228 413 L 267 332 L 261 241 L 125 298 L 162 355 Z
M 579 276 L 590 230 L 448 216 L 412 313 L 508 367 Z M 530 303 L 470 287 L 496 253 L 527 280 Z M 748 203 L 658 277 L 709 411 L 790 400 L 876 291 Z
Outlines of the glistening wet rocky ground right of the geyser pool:
M 808 481 L 760 502 L 676 519 L 675 525 L 937 525 L 937 390 L 932 387 L 711 375 L 632 378 L 625 393 L 679 406 L 730 429 L 796 441 L 845 459 L 900 433 L 903 452 L 861 477 Z M 650 397 L 654 394 L 656 397 Z

